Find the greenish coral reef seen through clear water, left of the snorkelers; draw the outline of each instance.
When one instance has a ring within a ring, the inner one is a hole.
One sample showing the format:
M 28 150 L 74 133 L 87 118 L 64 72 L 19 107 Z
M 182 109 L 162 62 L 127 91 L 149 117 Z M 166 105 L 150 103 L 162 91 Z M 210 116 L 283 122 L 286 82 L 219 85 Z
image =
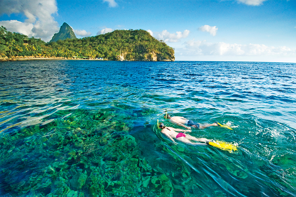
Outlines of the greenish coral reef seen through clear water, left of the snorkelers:
M 168 176 L 139 157 L 128 134 L 137 115 L 121 112 L 58 111 L 50 123 L 2 133 L 0 194 L 173 196 Z

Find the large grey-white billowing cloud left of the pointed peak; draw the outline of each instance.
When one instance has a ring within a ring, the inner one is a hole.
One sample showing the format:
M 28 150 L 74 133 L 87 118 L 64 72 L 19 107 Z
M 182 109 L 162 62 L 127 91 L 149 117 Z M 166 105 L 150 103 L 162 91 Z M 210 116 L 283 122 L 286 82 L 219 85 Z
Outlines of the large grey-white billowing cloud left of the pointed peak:
M 54 33 L 59 31 L 58 23 L 52 17 L 57 13 L 55 0 L 1 0 L 2 14 L 21 13 L 27 19 L 25 22 L 16 20 L 0 21 L 11 32 L 20 32 L 49 41 Z

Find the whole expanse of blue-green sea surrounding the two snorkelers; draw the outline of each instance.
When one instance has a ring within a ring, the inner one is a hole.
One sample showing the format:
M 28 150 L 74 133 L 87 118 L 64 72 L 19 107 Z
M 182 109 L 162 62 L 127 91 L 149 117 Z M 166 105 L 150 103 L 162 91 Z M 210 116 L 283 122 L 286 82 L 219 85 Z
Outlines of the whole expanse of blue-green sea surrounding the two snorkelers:
M 296 196 L 295 66 L 0 63 L 0 195 Z M 173 144 L 166 112 L 238 151 Z

